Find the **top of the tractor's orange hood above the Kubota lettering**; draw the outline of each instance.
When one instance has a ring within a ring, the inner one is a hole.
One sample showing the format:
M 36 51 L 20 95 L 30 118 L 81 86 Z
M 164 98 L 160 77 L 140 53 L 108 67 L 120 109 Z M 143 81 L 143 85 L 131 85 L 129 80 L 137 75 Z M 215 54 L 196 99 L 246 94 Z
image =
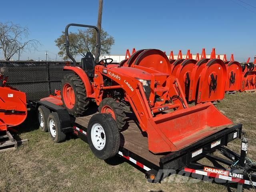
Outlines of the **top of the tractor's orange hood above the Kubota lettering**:
M 122 73 L 124 75 L 128 75 L 133 78 L 139 78 L 144 80 L 151 79 L 151 74 L 141 69 L 132 68 L 132 67 L 116 67 L 116 66 L 113 67 L 113 65 L 112 66 L 108 65 L 107 68 L 111 68 L 111 70 L 113 70 L 117 74 Z

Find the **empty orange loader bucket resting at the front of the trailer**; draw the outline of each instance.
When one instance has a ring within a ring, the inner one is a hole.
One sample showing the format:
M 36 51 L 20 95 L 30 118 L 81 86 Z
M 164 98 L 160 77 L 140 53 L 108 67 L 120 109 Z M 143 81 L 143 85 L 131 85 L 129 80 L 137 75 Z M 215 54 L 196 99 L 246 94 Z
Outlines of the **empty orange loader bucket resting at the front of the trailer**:
M 148 147 L 155 154 L 178 151 L 230 125 L 211 102 L 198 104 L 148 119 Z

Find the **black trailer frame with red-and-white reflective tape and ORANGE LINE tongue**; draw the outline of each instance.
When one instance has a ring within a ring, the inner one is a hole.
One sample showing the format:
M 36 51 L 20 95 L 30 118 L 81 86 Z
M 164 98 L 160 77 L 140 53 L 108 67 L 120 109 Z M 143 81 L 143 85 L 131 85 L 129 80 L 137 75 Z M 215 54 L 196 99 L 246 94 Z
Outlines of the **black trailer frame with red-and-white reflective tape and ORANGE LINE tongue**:
M 70 116 L 64 107 L 48 101 L 36 102 L 36 108 L 40 105 L 58 113 L 63 132 L 72 132 L 72 134 L 88 142 L 87 128 L 75 122 L 75 118 Z M 208 179 L 215 178 L 215 181 L 218 180 L 222 183 L 238 183 L 238 191 L 242 192 L 243 184 L 250 185 L 255 189 L 256 172 L 252 170 L 256 170 L 256 166 L 248 165 L 248 159 L 246 158 L 248 141 L 246 139 L 242 139 L 240 155 L 225 147 L 237 138 L 242 138 L 242 124 L 223 129 L 182 150 L 164 154 L 160 158 L 159 166 L 146 158 L 142 158 L 140 152 L 134 153 L 123 146 L 120 146 L 118 155 L 143 169 L 148 182 L 161 182 L 171 174 L 178 173 L 198 179 L 207 177 Z M 225 158 L 215 156 L 213 152 L 216 151 L 220 152 Z M 224 168 L 221 164 L 212 167 L 198 163 L 204 157 L 228 165 L 230 169 Z

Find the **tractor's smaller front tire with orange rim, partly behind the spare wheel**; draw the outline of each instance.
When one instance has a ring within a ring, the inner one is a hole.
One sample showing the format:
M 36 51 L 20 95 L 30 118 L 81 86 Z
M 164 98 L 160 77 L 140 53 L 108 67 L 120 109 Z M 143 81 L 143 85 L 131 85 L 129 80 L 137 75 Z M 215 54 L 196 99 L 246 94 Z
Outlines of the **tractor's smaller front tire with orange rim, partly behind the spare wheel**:
M 110 114 L 114 120 L 116 120 L 116 124 L 119 130 L 122 130 L 126 124 L 126 114 L 124 113 L 124 107 L 120 104 L 120 102 L 117 102 L 113 98 L 104 98 L 100 102 L 98 110 L 100 113 Z

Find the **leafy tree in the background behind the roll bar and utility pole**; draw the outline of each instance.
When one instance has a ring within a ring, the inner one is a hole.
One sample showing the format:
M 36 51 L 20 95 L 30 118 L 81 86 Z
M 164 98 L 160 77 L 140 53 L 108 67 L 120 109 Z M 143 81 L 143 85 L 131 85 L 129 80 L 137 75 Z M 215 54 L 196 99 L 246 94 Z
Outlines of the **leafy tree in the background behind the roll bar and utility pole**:
M 91 52 L 95 55 L 96 51 L 96 31 L 94 29 L 78 30 L 78 32 L 69 33 L 70 42 L 70 54 L 72 56 L 82 56 L 85 57 L 87 52 Z M 106 31 L 101 30 L 100 34 L 101 51 L 100 54 L 110 54 L 111 46 L 114 45 L 115 40 Z M 66 55 L 65 43 L 65 33 L 55 40 L 56 46 L 60 49 L 58 55 L 63 57 L 64 60 L 68 60 Z

